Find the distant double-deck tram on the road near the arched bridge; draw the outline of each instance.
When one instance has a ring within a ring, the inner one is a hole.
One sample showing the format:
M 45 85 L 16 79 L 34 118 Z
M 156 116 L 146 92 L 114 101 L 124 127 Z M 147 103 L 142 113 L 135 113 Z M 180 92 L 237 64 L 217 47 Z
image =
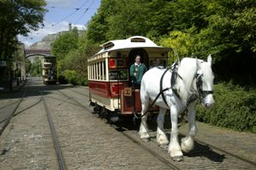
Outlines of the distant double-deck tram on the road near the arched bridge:
M 56 57 L 44 56 L 42 59 L 43 83 L 56 84 L 57 82 L 57 63 Z

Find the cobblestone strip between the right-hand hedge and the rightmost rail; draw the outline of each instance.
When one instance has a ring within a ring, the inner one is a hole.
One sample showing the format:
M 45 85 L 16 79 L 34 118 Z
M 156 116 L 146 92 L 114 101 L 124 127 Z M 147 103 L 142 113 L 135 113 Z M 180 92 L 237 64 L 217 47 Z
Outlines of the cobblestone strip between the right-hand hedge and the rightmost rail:
M 196 139 L 256 163 L 256 134 L 239 133 L 202 122 L 196 122 L 196 124 L 198 127 Z M 188 124 L 180 127 L 180 132 L 185 134 L 187 129 Z

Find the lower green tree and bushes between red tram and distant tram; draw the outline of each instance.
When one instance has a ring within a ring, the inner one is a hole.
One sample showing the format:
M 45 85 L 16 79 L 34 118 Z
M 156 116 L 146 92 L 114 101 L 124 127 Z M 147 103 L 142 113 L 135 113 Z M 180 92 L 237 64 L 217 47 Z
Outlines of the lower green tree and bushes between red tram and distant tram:
M 87 35 L 78 37 L 75 28 L 60 35 L 53 42 L 52 49 L 53 54 L 57 56 L 57 75 L 60 83 L 67 81 L 74 85 L 88 85 L 87 57 L 96 51 L 94 44 L 84 37 Z

